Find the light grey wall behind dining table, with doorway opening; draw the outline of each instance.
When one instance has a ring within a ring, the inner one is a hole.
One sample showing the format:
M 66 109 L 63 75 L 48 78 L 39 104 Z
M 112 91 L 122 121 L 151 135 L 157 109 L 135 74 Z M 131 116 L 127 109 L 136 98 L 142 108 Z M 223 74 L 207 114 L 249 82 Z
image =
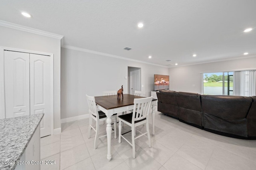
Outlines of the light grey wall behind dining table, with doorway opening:
M 142 91 L 154 90 L 154 74 L 168 74 L 168 68 L 61 48 L 61 119 L 88 114 L 86 94 L 103 91 L 128 93 L 128 67 L 141 68 Z

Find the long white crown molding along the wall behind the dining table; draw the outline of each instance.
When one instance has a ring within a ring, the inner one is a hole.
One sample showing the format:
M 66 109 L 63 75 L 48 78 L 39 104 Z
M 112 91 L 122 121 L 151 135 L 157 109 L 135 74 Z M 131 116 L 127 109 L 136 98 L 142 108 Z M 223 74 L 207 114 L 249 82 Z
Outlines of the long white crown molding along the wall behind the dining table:
M 159 64 L 154 64 L 154 63 L 148 63 L 148 62 L 144 62 L 144 61 L 140 61 L 140 60 L 136 60 L 136 59 L 130 59 L 130 58 L 126 58 L 126 57 L 121 57 L 121 56 L 118 56 L 118 55 L 112 55 L 112 54 L 108 54 L 108 53 L 102 53 L 102 52 L 98 52 L 98 51 L 92 51 L 92 50 L 90 50 L 90 49 L 84 49 L 84 48 L 74 47 L 74 46 L 71 46 L 71 45 L 62 45 L 61 47 L 62 47 L 62 48 L 66 48 L 66 49 L 73 49 L 73 50 L 76 50 L 76 51 L 83 51 L 83 52 L 86 52 L 86 53 L 104 55 L 104 56 L 107 56 L 107 57 L 113 57 L 113 58 L 124 59 L 124 60 L 128 60 L 128 61 L 134 61 L 134 62 L 138 62 L 138 63 L 144 63 L 144 64 L 150 64 L 150 65 L 155 65 L 155 66 L 159 66 L 159 67 L 166 67 L 166 68 L 168 68 L 168 67 L 165 66 L 165 65 L 159 65 Z

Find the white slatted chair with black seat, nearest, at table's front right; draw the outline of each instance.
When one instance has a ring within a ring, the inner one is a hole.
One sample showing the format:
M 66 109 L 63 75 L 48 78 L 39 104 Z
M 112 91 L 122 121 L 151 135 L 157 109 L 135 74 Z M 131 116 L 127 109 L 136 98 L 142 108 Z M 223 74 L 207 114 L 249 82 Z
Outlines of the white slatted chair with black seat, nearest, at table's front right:
M 132 146 L 132 157 L 135 159 L 135 139 L 146 136 L 148 137 L 148 146 L 151 148 L 151 139 L 150 139 L 150 132 L 148 127 L 148 113 L 150 111 L 151 101 L 153 97 L 147 97 L 142 99 L 134 99 L 134 108 L 132 113 L 128 113 L 126 115 L 120 115 L 119 117 L 119 138 L 118 142 L 121 143 L 121 137 L 124 138 L 131 146 Z M 126 139 L 122 131 L 122 122 L 132 128 L 132 143 Z M 137 126 L 146 124 L 146 132 L 142 133 L 136 129 Z M 140 132 L 139 136 L 134 136 L 135 130 Z

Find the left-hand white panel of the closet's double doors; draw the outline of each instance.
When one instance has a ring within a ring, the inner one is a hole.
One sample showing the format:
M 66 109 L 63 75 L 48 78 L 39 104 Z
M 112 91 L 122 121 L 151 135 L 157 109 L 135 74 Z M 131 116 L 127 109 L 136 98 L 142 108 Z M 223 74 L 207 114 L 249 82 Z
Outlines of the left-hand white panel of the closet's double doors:
M 30 114 L 29 53 L 4 51 L 5 117 Z

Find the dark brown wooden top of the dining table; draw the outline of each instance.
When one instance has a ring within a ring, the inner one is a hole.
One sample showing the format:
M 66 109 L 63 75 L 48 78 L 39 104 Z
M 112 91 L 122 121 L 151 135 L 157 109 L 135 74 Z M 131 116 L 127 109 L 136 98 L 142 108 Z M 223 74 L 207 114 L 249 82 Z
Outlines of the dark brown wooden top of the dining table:
M 109 95 L 109 96 L 96 96 L 95 102 L 97 105 L 100 105 L 104 109 L 115 109 L 118 107 L 130 106 L 134 104 L 134 99 L 140 99 L 144 97 L 124 94 L 124 99 L 118 100 L 117 95 Z

